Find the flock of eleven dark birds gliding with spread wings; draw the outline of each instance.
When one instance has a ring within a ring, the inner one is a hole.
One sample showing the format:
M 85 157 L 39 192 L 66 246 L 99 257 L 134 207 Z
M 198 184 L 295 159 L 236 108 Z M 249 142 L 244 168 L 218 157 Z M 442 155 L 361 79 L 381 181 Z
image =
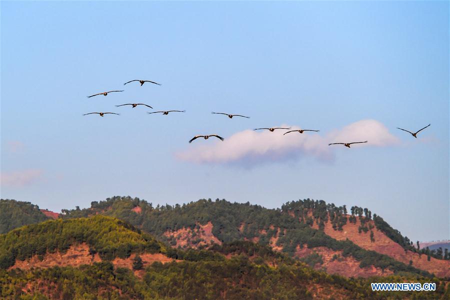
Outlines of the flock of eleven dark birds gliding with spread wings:
M 155 81 L 151 81 L 151 80 L 139 80 L 139 79 L 129 80 L 129 81 L 123 83 L 123 85 L 126 85 L 127 83 L 134 82 L 134 81 L 139 82 L 139 83 L 140 83 L 140 86 L 142 86 L 145 82 L 150 82 L 150 83 L 153 83 L 153 84 L 156 84 L 156 85 L 161 85 L 160 83 L 157 83 L 157 82 L 155 82 Z M 108 93 L 111 93 L 111 92 L 122 92 L 122 91 L 123 91 L 123 90 L 109 90 L 109 91 L 99 92 L 99 93 L 96 93 L 96 94 L 93 94 L 93 95 L 90 95 L 90 96 L 87 96 L 87 97 L 90 98 L 90 97 L 98 96 L 98 95 L 106 96 Z M 124 106 L 124 105 L 131 105 L 132 108 L 136 107 L 137 105 L 143 105 L 143 106 L 146 106 L 146 107 L 149 107 L 149 108 L 153 109 L 153 107 L 151 107 L 150 105 L 145 104 L 145 103 L 125 103 L 125 104 L 120 104 L 120 105 L 115 105 L 115 106 L 116 106 L 116 107 L 120 107 L 120 106 Z M 149 114 L 152 114 L 152 113 L 168 114 L 169 112 L 185 112 L 185 111 L 186 111 L 186 110 L 160 110 L 160 111 L 151 111 L 151 112 L 147 112 L 147 113 L 149 113 Z M 214 112 L 214 111 L 212 111 L 211 113 L 212 113 L 212 114 L 223 114 L 223 115 L 228 116 L 230 119 L 232 119 L 234 116 L 240 116 L 240 117 L 244 117 L 244 118 L 250 118 L 249 116 L 245 116 L 245 115 L 242 115 L 242 114 L 230 114 L 230 113 Z M 100 116 L 104 116 L 105 114 L 116 114 L 116 115 L 119 115 L 119 113 L 115 113 L 115 112 L 88 112 L 88 113 L 84 113 L 83 115 L 88 115 L 88 114 L 99 114 Z M 431 124 L 428 124 L 428 125 L 426 125 L 425 127 L 421 128 L 421 129 L 419 129 L 419 130 L 417 130 L 417 131 L 415 131 L 415 132 L 411 132 L 411 131 L 409 131 L 409 130 L 402 129 L 402 128 L 399 128 L 399 127 L 396 127 L 396 128 L 397 128 L 397 129 L 400 129 L 400 130 L 403 130 L 403 131 L 406 131 L 406 132 L 410 133 L 412 136 L 414 136 L 415 138 L 417 138 L 417 133 L 419 133 L 421 130 L 425 129 L 425 128 L 428 127 L 429 125 L 431 125 Z M 286 127 L 269 127 L 269 128 L 263 127 L 263 128 L 255 128 L 255 129 L 253 129 L 253 130 L 269 130 L 270 132 L 273 132 L 273 131 L 275 131 L 276 129 L 289 130 L 290 127 L 288 127 L 288 128 L 286 128 Z M 313 129 L 295 129 L 295 130 L 289 130 L 289 131 L 286 131 L 286 132 L 283 133 L 283 135 L 285 135 L 285 134 L 287 134 L 287 133 L 290 133 L 290 132 L 303 133 L 304 131 L 319 132 L 320 130 L 313 130 Z M 217 137 L 218 139 L 220 139 L 220 140 L 222 140 L 222 141 L 224 140 L 223 137 L 221 137 L 221 136 L 219 136 L 219 135 L 217 135 L 217 134 L 195 135 L 194 137 L 192 137 L 192 138 L 189 140 L 189 143 L 191 143 L 193 140 L 195 140 L 195 139 L 197 139 L 197 138 L 199 138 L 199 137 L 203 137 L 204 139 L 208 139 L 208 138 L 211 137 L 211 136 Z M 368 141 L 365 140 L 365 141 L 352 141 L 352 142 L 332 142 L 332 143 L 329 143 L 328 145 L 329 145 L 329 146 L 330 146 L 330 145 L 344 145 L 345 147 L 350 148 L 350 145 L 351 145 L 351 144 L 356 144 L 356 143 L 366 143 L 366 142 L 368 142 Z

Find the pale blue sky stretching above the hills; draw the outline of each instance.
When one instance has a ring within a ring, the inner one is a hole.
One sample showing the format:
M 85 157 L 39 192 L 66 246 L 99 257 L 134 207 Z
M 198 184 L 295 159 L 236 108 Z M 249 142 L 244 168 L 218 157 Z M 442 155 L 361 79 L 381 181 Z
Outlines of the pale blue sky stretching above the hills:
M 412 240 L 449 238 L 448 6 L 1 1 L 1 197 L 55 211 L 112 195 L 309 197 L 368 207 Z M 162 85 L 123 86 L 140 78 Z M 86 98 L 110 89 L 125 91 Z M 186 112 L 114 106 L 130 102 Z M 391 142 L 310 150 L 364 120 Z M 428 123 L 417 139 L 395 129 Z M 262 154 L 235 137 L 281 124 L 320 132 Z M 208 133 L 225 141 L 187 142 Z

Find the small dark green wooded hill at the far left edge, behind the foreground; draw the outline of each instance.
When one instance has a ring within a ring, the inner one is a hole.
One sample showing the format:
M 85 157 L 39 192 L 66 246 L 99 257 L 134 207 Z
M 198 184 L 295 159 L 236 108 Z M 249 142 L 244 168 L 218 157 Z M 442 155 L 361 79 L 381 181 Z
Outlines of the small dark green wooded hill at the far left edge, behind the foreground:
M 47 219 L 48 217 L 39 210 L 39 206 L 30 202 L 0 199 L 0 233 Z

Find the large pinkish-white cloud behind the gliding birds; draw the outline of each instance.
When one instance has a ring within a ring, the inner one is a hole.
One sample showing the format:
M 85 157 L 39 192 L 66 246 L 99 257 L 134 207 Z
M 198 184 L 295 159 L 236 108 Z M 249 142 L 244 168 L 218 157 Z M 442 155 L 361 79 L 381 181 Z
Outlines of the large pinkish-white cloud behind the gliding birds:
M 289 127 L 280 125 L 280 127 Z M 292 126 L 291 129 L 299 129 Z M 315 129 L 315 128 L 311 128 Z M 225 138 L 193 145 L 191 148 L 175 153 L 178 159 L 197 163 L 243 163 L 254 165 L 269 161 L 285 161 L 304 156 L 312 156 L 322 161 L 334 158 L 329 142 L 351 142 L 368 140 L 357 146 L 387 146 L 398 142 L 388 129 L 376 120 L 360 120 L 340 130 L 332 130 L 324 136 L 322 132 L 291 132 L 277 129 L 253 131 L 244 130 Z M 197 142 L 202 140 L 197 140 Z M 355 146 L 356 147 L 356 146 Z

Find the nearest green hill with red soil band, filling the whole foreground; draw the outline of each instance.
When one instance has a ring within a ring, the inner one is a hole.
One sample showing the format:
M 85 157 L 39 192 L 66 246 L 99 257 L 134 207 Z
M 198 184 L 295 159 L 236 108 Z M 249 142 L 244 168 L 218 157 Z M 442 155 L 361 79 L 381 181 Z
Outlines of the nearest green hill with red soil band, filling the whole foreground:
M 449 292 L 442 280 L 408 273 L 384 279 L 328 275 L 307 266 L 310 261 L 250 241 L 223 242 L 209 250 L 165 247 L 103 215 L 14 229 L 0 235 L 0 253 L 5 299 L 384 299 L 445 298 Z M 369 283 L 382 280 L 435 282 L 437 291 L 372 292 Z

